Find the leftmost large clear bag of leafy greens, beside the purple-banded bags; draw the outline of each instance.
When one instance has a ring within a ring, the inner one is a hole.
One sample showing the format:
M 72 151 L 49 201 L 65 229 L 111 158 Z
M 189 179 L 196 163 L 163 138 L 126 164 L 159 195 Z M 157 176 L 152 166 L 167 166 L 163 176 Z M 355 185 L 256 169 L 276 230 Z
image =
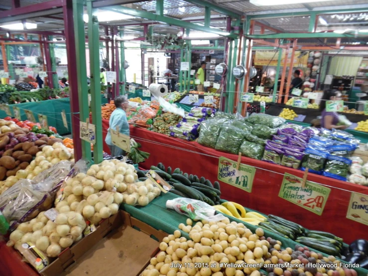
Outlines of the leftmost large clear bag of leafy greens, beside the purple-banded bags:
M 198 143 L 207 147 L 215 148 L 223 126 L 229 125 L 228 119 L 206 120 L 201 123 Z

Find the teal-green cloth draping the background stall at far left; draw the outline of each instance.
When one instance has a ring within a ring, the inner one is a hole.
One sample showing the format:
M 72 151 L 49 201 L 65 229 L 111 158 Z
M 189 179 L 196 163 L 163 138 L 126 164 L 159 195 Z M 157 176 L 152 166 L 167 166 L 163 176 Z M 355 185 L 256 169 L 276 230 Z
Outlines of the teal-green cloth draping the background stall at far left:
M 107 103 L 107 99 L 104 95 L 101 95 L 101 102 L 103 104 Z M 18 107 L 23 121 L 27 120 L 24 110 L 30 110 L 33 112 L 34 118 L 36 119 L 35 123 L 38 122 L 38 114 L 46 115 L 48 125 L 55 127 L 60 135 L 71 133 L 70 98 L 15 104 L 9 105 L 9 107 L 13 116 L 13 107 Z M 63 120 L 61 119 L 61 112 L 63 110 L 66 114 L 68 129 L 64 127 Z M 6 116 L 6 113 L 0 110 L 0 118 L 5 118 Z

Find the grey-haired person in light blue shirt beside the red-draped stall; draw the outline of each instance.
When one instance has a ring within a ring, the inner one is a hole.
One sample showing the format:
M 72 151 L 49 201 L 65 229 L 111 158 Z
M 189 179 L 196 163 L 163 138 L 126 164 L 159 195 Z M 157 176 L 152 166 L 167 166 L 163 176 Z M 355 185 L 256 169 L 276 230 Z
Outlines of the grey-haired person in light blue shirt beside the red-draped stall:
M 114 110 L 111 114 L 109 121 L 110 128 L 108 129 L 108 134 L 105 138 L 105 142 L 108 144 L 111 151 L 111 156 L 113 157 L 125 155 L 125 151 L 113 144 L 110 129 L 116 131 L 117 127 L 119 127 L 119 132 L 121 134 L 129 136 L 129 124 L 125 114 L 125 110 L 129 105 L 128 99 L 125 95 L 118 96 L 115 98 L 114 104 L 116 106 L 116 110 Z

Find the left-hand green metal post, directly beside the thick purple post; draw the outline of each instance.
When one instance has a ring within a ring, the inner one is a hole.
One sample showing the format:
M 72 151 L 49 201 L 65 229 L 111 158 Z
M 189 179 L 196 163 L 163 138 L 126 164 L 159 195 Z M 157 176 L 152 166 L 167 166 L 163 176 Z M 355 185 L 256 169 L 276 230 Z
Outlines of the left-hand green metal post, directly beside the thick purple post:
M 79 118 L 80 118 L 79 120 L 82 122 L 86 122 L 87 119 L 89 120 L 90 110 L 88 104 L 86 104 L 88 103 L 88 85 L 87 85 L 86 40 L 84 33 L 83 8 L 84 8 L 83 0 L 73 0 L 74 34 L 75 34 L 75 48 L 77 57 L 75 62 L 79 77 L 78 79 Z M 53 48 L 50 47 L 50 53 L 53 52 L 53 50 L 51 49 Z M 92 160 L 91 144 L 83 139 L 81 139 L 81 142 L 82 142 L 83 158 L 85 158 L 88 161 L 91 161 Z

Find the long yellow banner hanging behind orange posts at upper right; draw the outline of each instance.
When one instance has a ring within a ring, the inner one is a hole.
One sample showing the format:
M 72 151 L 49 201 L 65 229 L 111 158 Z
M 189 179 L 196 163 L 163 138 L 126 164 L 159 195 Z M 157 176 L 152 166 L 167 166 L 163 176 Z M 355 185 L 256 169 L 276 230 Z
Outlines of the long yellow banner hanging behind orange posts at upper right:
M 302 52 L 295 51 L 293 66 L 294 67 L 307 67 L 309 55 L 304 55 L 299 58 Z M 282 50 L 281 56 L 281 66 L 285 62 L 286 51 Z M 264 65 L 264 66 L 277 66 L 278 52 L 277 51 L 255 51 L 254 65 Z M 291 62 L 291 51 L 289 51 L 287 57 L 287 66 Z

